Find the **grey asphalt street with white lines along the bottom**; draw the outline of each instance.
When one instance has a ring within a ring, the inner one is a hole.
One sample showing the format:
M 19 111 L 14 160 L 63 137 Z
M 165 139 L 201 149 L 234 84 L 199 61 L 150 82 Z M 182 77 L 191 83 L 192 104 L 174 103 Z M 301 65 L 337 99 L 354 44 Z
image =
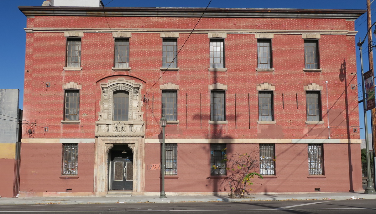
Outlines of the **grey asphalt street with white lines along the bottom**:
M 137 203 L 137 204 L 35 204 L 0 205 L 0 214 L 233 214 L 233 213 L 305 213 L 305 214 L 374 214 L 375 199 L 251 201 L 202 203 Z

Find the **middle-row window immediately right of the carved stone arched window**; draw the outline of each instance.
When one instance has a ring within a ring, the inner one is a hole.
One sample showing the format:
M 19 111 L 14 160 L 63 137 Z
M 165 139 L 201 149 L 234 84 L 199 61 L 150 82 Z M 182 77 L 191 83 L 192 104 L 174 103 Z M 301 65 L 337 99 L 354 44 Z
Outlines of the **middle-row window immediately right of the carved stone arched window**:
M 162 91 L 162 115 L 165 115 L 168 121 L 177 120 L 177 100 L 176 90 Z

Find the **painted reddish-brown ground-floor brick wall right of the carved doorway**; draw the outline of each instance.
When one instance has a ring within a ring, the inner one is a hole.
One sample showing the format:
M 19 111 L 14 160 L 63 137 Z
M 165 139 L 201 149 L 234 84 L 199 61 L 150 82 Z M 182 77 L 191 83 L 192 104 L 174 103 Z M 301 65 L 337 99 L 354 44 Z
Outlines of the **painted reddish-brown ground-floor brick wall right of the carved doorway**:
M 227 144 L 233 153 L 258 151 L 259 144 Z M 177 176 L 166 192 L 229 192 L 228 180 L 210 175 L 210 144 L 178 144 Z M 160 163 L 159 144 L 146 144 L 146 163 Z M 359 144 L 324 144 L 324 176 L 308 175 L 307 144 L 276 144 L 276 175 L 254 178 L 251 193 L 362 191 Z M 159 192 L 159 170 L 147 167 L 145 192 Z

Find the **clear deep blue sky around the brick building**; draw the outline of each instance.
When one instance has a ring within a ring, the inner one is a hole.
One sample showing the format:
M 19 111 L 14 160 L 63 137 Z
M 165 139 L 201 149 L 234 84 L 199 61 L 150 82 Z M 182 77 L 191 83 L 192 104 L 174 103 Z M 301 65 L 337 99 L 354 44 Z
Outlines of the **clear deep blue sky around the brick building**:
M 107 7 L 206 7 L 209 0 L 143 0 L 143 1 L 125 1 L 125 0 L 102 0 Z M 2 67 L 2 89 L 20 89 L 20 108 L 23 105 L 23 82 L 24 82 L 24 63 L 25 63 L 25 38 L 26 33 L 23 30 L 26 27 L 26 17 L 18 10 L 18 6 L 41 6 L 43 0 L 3 0 L 3 8 L 0 27 L 3 29 L 0 38 L 3 41 L 0 48 L 0 62 Z M 366 9 L 366 0 L 212 0 L 209 7 L 230 7 L 230 8 L 299 8 L 299 9 Z M 376 1 L 371 8 L 376 7 Z M 372 10 L 372 13 L 376 13 Z M 376 14 L 373 14 L 372 21 L 376 20 Z M 364 38 L 367 31 L 366 15 L 362 15 L 355 21 L 355 30 L 359 31 L 356 35 L 356 41 L 359 37 Z M 373 38 L 373 40 L 376 40 Z M 340 45 L 340 44 L 338 44 Z M 366 43 L 363 47 L 364 70 L 368 69 L 368 54 Z M 354 46 L 356 44 L 354 43 Z M 356 47 L 358 72 L 360 72 L 359 50 Z M 375 55 L 376 58 L 376 55 Z M 358 75 L 358 81 L 360 81 Z M 358 88 L 361 92 L 361 88 Z M 362 99 L 359 93 L 359 99 Z M 364 127 L 363 108 L 359 105 L 360 126 Z M 370 118 L 368 112 L 368 118 Z M 370 119 L 368 119 L 370 121 Z M 369 126 L 370 127 L 370 126 Z M 361 138 L 364 138 L 364 129 L 361 129 Z

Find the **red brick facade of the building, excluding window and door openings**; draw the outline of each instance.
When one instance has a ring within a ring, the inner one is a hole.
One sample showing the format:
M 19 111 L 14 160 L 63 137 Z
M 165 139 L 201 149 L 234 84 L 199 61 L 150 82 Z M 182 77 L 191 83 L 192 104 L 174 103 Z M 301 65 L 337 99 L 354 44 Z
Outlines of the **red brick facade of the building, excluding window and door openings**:
M 46 8 L 20 7 L 27 16 L 23 117 L 30 121 L 23 129 L 21 196 L 51 196 L 66 191 L 72 195 L 103 195 L 111 189 L 111 167 L 107 165 L 111 150 L 106 153 L 105 146 L 125 148 L 125 144 L 133 146 L 133 194 L 159 194 L 161 172 L 148 166 L 161 163 L 160 86 L 167 83 L 179 86 L 179 123 L 168 123 L 165 128 L 166 142 L 176 143 L 178 148 L 178 173 L 166 177 L 166 192 L 229 192 L 223 177 L 210 176 L 210 143 L 226 143 L 228 154 L 258 151 L 260 143 L 275 144 L 276 175 L 255 179 L 252 193 L 362 190 L 359 132 L 354 132 L 359 127 L 358 91 L 352 85 L 358 84 L 354 20 L 365 11 L 323 10 L 329 14 L 323 16 L 321 10 L 287 9 L 282 13 L 209 9 L 212 15 L 205 15 L 190 34 L 198 21 L 198 17 L 185 14 L 190 9 L 161 9 L 171 16 L 156 15 L 153 8 L 121 8 L 123 15 L 111 8 L 88 9 L 98 12 L 94 16 L 83 15 L 81 7 L 75 7 L 77 11 L 70 15 L 70 9 L 56 9 L 61 15 L 54 15 Z M 203 12 L 191 10 L 200 15 Z M 129 11 L 146 15 L 132 16 Z M 236 12 L 246 16 L 239 17 Z M 73 31 L 82 33 L 82 69 L 68 70 L 63 69 L 66 34 Z M 129 35 L 130 70 L 112 69 L 114 32 Z M 160 69 L 161 33 L 165 32 L 179 33 L 178 70 Z M 212 71 L 208 69 L 208 34 L 223 33 L 226 69 Z M 273 36 L 274 70 L 256 69 L 256 34 L 259 37 L 262 33 Z M 321 70 L 305 71 L 303 38 L 311 34 L 318 40 Z M 134 86 L 134 96 L 129 98 L 133 101 L 133 118 L 123 126 L 130 131 L 116 131 L 114 123 L 104 116 L 111 117 L 104 85 L 111 87 L 112 82 L 127 85 L 123 87 L 141 85 L 139 90 Z M 63 86 L 70 83 L 80 85 L 79 123 L 64 123 Z M 274 123 L 262 124 L 258 123 L 257 87 L 266 83 L 274 86 Z M 213 84 L 227 87 L 224 124 L 209 123 L 209 87 Z M 323 123 L 306 123 L 305 87 L 312 84 L 321 87 Z M 28 138 L 25 133 L 30 126 L 34 132 Z M 61 178 L 63 143 L 79 145 L 78 175 L 74 178 Z M 324 176 L 320 178 L 308 176 L 309 143 L 323 144 Z

